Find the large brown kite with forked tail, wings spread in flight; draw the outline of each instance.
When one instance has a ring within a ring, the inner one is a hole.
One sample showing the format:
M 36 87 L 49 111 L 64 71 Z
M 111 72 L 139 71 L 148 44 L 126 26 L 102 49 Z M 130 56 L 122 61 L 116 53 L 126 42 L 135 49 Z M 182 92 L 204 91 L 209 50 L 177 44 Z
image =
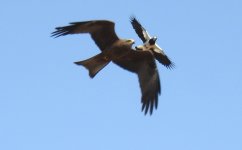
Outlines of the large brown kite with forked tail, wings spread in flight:
M 120 39 L 115 33 L 115 23 L 108 20 L 91 20 L 84 22 L 70 23 L 68 26 L 57 27 L 52 32 L 53 37 L 68 34 L 88 33 L 101 53 L 75 62 L 82 65 L 89 71 L 93 78 L 110 61 L 133 73 L 139 78 L 141 88 L 142 111 L 150 115 L 153 109 L 157 109 L 158 95 L 160 94 L 160 79 L 152 51 L 137 51 L 132 48 L 134 40 Z

